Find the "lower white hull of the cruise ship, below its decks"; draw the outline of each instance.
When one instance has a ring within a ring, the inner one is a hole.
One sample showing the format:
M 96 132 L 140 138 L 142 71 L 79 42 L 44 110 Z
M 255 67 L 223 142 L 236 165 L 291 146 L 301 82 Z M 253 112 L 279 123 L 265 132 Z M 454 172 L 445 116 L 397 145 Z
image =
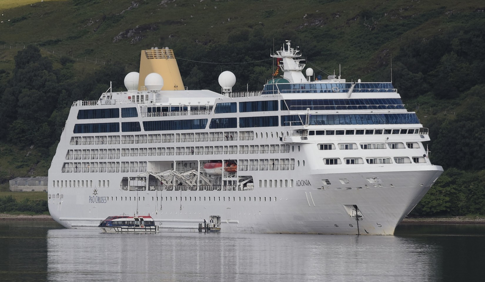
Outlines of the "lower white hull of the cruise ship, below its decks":
M 220 215 L 222 232 L 392 235 L 397 224 L 414 208 L 441 173 L 439 168 L 427 168 L 436 170 L 374 173 L 384 183 L 392 181 L 393 188 L 385 184 L 383 188 L 348 187 L 351 189 L 339 185 L 340 189 L 308 186 L 266 188 L 264 191 L 144 191 L 138 195 L 145 197 L 145 201 L 138 202 L 134 199 L 131 202 L 112 201 L 114 195 L 129 195 L 129 191 L 123 193 L 111 188 L 98 192 L 97 197 L 108 197 L 106 203 L 90 205 L 82 202 L 90 197 L 92 189 L 78 188 L 73 189 L 72 193 L 64 190 L 62 202 L 50 199 L 49 210 L 52 217 L 67 228 L 95 227 L 106 214 L 133 212 L 138 207 L 140 215 L 149 213 L 156 224 L 162 223 L 162 230 L 195 232 L 198 223 L 210 215 Z M 349 181 L 360 180 L 358 187 L 364 187 L 365 179 L 374 174 L 334 176 L 345 176 Z M 319 174 L 312 175 L 310 183 L 318 183 L 321 177 Z M 423 186 L 420 187 L 420 184 Z M 261 196 L 262 202 L 259 202 Z M 157 202 L 156 197 L 172 197 L 172 201 Z M 175 197 L 178 197 L 177 201 Z M 192 201 L 185 201 L 185 197 L 192 197 Z M 206 197 L 206 201 L 198 201 L 198 197 Z M 214 197 L 216 201 L 213 201 Z M 236 202 L 233 201 L 234 197 Z M 241 201 L 239 197 L 242 197 Z M 251 202 L 249 197 L 252 198 Z M 363 215 L 362 220 L 358 220 L 358 230 L 355 217 L 351 217 L 346 209 L 346 206 L 354 204 Z

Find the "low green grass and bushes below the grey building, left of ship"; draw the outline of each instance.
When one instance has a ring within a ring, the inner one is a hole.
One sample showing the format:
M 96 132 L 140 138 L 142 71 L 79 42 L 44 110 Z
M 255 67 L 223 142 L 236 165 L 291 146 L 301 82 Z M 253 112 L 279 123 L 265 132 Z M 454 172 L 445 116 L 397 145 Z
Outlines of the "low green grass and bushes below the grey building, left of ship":
M 0 213 L 49 214 L 46 192 L 0 192 Z

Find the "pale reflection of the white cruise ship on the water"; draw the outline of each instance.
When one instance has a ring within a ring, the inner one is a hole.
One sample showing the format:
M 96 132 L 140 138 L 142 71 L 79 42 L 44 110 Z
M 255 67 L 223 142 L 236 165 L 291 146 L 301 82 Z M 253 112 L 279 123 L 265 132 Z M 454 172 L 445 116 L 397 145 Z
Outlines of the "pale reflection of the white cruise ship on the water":
M 436 281 L 442 250 L 400 236 L 49 230 L 49 281 Z

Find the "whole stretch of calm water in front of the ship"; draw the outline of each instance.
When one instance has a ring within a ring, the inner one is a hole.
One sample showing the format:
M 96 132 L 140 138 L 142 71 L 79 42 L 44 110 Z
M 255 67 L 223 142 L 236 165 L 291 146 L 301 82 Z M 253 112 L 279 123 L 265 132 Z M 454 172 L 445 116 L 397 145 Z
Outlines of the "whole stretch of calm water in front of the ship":
M 484 281 L 484 225 L 396 234 L 101 234 L 0 222 L 0 281 Z

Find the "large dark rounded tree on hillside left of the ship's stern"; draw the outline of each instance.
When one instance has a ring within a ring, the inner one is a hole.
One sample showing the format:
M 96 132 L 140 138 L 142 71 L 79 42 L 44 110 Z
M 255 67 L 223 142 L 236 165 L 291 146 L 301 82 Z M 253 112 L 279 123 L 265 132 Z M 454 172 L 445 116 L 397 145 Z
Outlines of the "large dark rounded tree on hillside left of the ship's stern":
M 8 88 L 2 95 L 1 137 L 18 145 L 45 145 L 50 132 L 41 126 L 56 108 L 59 96 L 57 74 L 48 58 L 32 45 L 19 51 Z

